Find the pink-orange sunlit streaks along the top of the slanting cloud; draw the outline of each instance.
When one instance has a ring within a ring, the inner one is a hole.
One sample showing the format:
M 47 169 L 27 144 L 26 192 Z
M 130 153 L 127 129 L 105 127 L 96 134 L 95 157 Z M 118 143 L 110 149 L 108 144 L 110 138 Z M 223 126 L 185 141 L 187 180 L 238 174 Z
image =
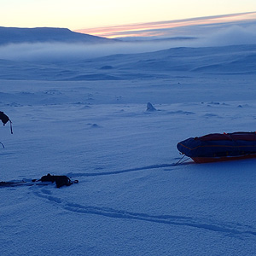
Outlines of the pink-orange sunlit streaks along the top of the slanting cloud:
M 171 20 L 149 23 L 129 24 L 122 26 L 103 26 L 96 28 L 87 28 L 75 30 L 75 32 L 86 33 L 104 38 L 119 38 L 119 37 L 142 37 L 152 36 L 154 31 L 160 29 L 168 29 L 182 26 L 198 26 L 211 25 L 218 23 L 231 23 L 243 20 L 256 20 L 256 12 L 236 15 L 221 15 L 202 18 L 193 18 L 186 20 Z M 162 32 L 157 32 L 155 35 L 160 35 Z

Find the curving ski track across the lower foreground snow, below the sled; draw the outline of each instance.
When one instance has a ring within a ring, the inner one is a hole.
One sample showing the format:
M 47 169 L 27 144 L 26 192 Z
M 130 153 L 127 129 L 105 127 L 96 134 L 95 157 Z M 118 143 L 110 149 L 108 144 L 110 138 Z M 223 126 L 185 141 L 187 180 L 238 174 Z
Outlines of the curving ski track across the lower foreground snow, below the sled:
M 93 207 L 84 206 L 77 203 L 64 201 L 61 198 L 51 195 L 51 191 L 45 188 L 32 187 L 34 195 L 44 198 L 52 203 L 58 204 L 58 207 L 82 214 L 94 214 L 108 218 L 133 219 L 139 221 L 146 221 L 156 224 L 169 224 L 174 226 L 186 226 L 195 229 L 208 230 L 218 232 L 224 236 L 238 236 L 241 239 L 244 236 L 256 236 L 256 229 L 249 225 L 239 223 L 214 223 L 210 219 L 192 218 L 186 216 L 176 215 L 151 215 L 142 212 L 129 212 L 124 210 L 117 210 L 110 207 Z

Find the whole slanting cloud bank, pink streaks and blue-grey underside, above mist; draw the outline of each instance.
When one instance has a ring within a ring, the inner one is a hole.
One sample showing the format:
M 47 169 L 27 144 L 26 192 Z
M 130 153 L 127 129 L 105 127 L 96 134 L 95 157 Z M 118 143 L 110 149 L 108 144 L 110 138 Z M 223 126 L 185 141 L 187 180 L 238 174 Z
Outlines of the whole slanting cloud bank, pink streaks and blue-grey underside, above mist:
M 217 15 L 184 20 L 168 20 L 148 23 L 133 23 L 121 26 L 102 26 L 77 30 L 87 34 L 104 38 L 173 38 L 173 37 L 195 37 L 203 35 L 212 30 L 219 30 L 226 26 L 253 26 L 255 30 L 256 12 Z

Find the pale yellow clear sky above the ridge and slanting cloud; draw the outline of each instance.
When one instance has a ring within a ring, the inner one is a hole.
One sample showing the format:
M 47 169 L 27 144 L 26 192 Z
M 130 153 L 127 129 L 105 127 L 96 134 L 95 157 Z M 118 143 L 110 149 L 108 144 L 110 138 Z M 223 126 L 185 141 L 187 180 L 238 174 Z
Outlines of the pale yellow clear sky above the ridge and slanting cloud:
M 256 11 L 255 0 L 0 0 L 0 6 L 0 26 L 73 31 Z

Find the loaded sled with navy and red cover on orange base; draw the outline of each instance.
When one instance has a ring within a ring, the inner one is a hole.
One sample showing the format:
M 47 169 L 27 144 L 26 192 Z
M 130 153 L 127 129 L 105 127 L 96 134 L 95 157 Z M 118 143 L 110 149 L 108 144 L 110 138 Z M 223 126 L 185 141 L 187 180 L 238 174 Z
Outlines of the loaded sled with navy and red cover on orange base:
M 212 133 L 190 137 L 177 149 L 195 163 L 256 158 L 256 132 Z

